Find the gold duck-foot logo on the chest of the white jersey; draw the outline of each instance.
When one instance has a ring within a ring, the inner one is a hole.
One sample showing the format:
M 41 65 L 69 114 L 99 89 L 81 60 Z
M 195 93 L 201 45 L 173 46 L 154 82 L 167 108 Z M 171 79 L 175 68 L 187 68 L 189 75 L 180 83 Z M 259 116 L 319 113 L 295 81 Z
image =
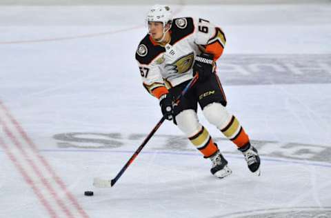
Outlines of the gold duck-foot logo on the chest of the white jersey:
M 194 53 L 191 52 L 183 57 L 174 61 L 174 63 L 168 64 L 165 66 L 165 69 L 168 70 L 169 73 L 184 73 L 188 72 L 192 68 L 194 60 Z

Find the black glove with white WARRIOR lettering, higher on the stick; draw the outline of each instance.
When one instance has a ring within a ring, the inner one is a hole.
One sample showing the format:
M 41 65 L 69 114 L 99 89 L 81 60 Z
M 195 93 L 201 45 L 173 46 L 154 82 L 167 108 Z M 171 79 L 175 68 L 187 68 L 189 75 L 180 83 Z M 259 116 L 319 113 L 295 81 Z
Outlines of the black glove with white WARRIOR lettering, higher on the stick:
M 199 74 L 199 81 L 205 81 L 212 75 L 214 67 L 214 55 L 210 53 L 202 53 L 195 57 L 193 66 L 193 76 Z

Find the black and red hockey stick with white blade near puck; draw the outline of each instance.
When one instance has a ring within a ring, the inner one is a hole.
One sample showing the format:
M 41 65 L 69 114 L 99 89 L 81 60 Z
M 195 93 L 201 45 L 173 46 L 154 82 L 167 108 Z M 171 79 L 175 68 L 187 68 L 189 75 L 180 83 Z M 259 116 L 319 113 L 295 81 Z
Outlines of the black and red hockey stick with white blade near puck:
M 181 97 L 183 97 L 183 95 L 185 95 L 186 92 L 188 92 L 188 90 L 194 85 L 194 83 L 197 82 L 199 78 L 199 75 L 195 75 L 193 77 L 193 79 L 191 79 L 190 83 L 188 83 L 188 85 L 185 86 L 185 88 L 183 89 L 183 91 L 181 92 L 181 94 L 177 97 L 177 99 L 174 100 L 174 103 L 179 103 Z M 101 178 L 94 178 L 93 181 L 93 186 L 97 187 L 97 188 L 108 188 L 108 187 L 112 187 L 114 186 L 114 184 L 116 184 L 117 180 L 119 180 L 119 177 L 121 177 L 121 175 L 123 175 L 123 172 L 126 171 L 126 169 L 130 166 L 130 164 L 132 164 L 132 162 L 134 161 L 134 159 L 136 159 L 136 157 L 138 156 L 139 152 L 141 152 L 141 150 L 143 149 L 144 146 L 146 146 L 146 143 L 148 143 L 148 141 L 150 140 L 150 138 L 154 135 L 155 132 L 157 132 L 157 130 L 159 129 L 159 127 L 161 126 L 161 124 L 163 123 L 163 121 L 165 121 L 165 116 L 163 116 L 160 121 L 157 123 L 156 126 L 154 126 L 154 128 L 152 129 L 152 131 L 150 132 L 150 134 L 148 134 L 148 136 L 146 137 L 145 140 L 143 140 L 143 143 L 141 143 L 141 146 L 139 146 L 139 148 L 134 152 L 134 154 L 132 155 L 132 157 L 130 157 L 130 159 L 128 160 L 128 162 L 126 162 L 126 165 L 123 166 L 123 168 L 119 171 L 119 173 L 117 173 L 116 177 L 114 177 L 114 179 L 101 179 Z

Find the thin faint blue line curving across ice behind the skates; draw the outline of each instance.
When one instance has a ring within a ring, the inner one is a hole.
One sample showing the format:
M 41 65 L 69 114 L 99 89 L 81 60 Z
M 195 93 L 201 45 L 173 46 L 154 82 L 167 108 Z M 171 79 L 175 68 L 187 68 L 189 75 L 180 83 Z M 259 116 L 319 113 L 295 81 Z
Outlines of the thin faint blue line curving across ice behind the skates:
M 3 150 L 0 150 L 0 152 L 3 152 Z M 95 149 L 40 149 L 39 152 L 100 152 L 100 153 L 130 153 L 133 154 L 134 151 L 132 150 L 95 150 Z M 227 157 L 230 157 L 230 159 L 243 159 L 242 155 L 233 155 L 228 152 L 223 152 L 227 155 Z M 150 154 L 158 154 L 158 155 L 188 155 L 188 156 L 200 156 L 199 153 L 194 152 L 171 152 L 171 151 L 142 151 L 141 154 L 150 155 Z M 283 159 L 277 159 L 272 157 L 261 157 L 262 161 L 273 161 L 273 162 L 279 162 L 279 163 L 290 163 L 290 164 L 301 164 L 306 166 L 321 166 L 326 168 L 331 168 L 331 164 L 318 164 L 313 163 L 311 161 L 292 161 L 292 160 L 283 160 Z

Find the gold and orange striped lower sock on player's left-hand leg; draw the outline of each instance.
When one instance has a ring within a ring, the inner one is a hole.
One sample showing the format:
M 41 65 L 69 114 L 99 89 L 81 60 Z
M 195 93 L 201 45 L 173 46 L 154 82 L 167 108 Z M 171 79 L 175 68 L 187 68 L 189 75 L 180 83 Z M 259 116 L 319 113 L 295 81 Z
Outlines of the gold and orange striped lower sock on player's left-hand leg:
M 214 155 L 219 148 L 210 137 L 209 132 L 202 126 L 201 130 L 194 136 L 188 138 L 192 144 L 203 154 L 203 157 L 208 158 Z

